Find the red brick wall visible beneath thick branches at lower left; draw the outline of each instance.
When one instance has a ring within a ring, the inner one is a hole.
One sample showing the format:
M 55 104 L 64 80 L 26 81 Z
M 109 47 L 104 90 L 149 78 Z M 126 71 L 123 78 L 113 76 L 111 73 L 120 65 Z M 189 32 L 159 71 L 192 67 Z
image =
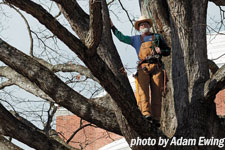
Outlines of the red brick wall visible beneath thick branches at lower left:
M 83 124 L 88 122 L 83 121 Z M 61 133 L 65 141 L 80 127 L 80 118 L 75 115 L 62 115 L 56 117 L 56 131 Z M 70 145 L 85 150 L 98 150 L 99 148 L 122 138 L 114 133 L 96 127 L 85 127 L 80 130 L 70 142 Z

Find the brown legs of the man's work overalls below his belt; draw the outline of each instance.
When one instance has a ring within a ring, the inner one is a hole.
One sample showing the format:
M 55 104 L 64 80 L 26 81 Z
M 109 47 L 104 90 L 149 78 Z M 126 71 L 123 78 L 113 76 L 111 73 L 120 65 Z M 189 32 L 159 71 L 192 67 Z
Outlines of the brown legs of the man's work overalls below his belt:
M 143 66 L 147 67 L 148 72 L 142 69 Z M 138 69 L 138 106 L 144 116 L 151 115 L 153 119 L 160 120 L 163 71 L 158 64 L 143 64 Z

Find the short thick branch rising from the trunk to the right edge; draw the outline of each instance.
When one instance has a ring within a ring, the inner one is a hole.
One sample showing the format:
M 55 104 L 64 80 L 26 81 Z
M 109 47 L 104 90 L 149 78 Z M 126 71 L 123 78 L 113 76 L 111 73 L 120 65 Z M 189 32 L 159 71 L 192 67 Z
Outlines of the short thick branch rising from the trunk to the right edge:
M 204 97 L 206 100 L 213 100 L 216 94 L 225 87 L 225 65 L 223 65 L 212 77 L 205 83 Z

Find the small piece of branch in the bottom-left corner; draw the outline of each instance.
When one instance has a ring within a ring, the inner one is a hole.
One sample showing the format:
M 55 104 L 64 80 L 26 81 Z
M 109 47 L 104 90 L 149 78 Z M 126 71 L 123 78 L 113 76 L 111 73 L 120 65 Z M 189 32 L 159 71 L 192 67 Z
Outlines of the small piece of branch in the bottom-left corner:
M 2 150 L 23 150 L 22 148 L 13 144 L 11 141 L 7 140 L 2 135 L 0 135 L 0 149 L 2 149 Z

